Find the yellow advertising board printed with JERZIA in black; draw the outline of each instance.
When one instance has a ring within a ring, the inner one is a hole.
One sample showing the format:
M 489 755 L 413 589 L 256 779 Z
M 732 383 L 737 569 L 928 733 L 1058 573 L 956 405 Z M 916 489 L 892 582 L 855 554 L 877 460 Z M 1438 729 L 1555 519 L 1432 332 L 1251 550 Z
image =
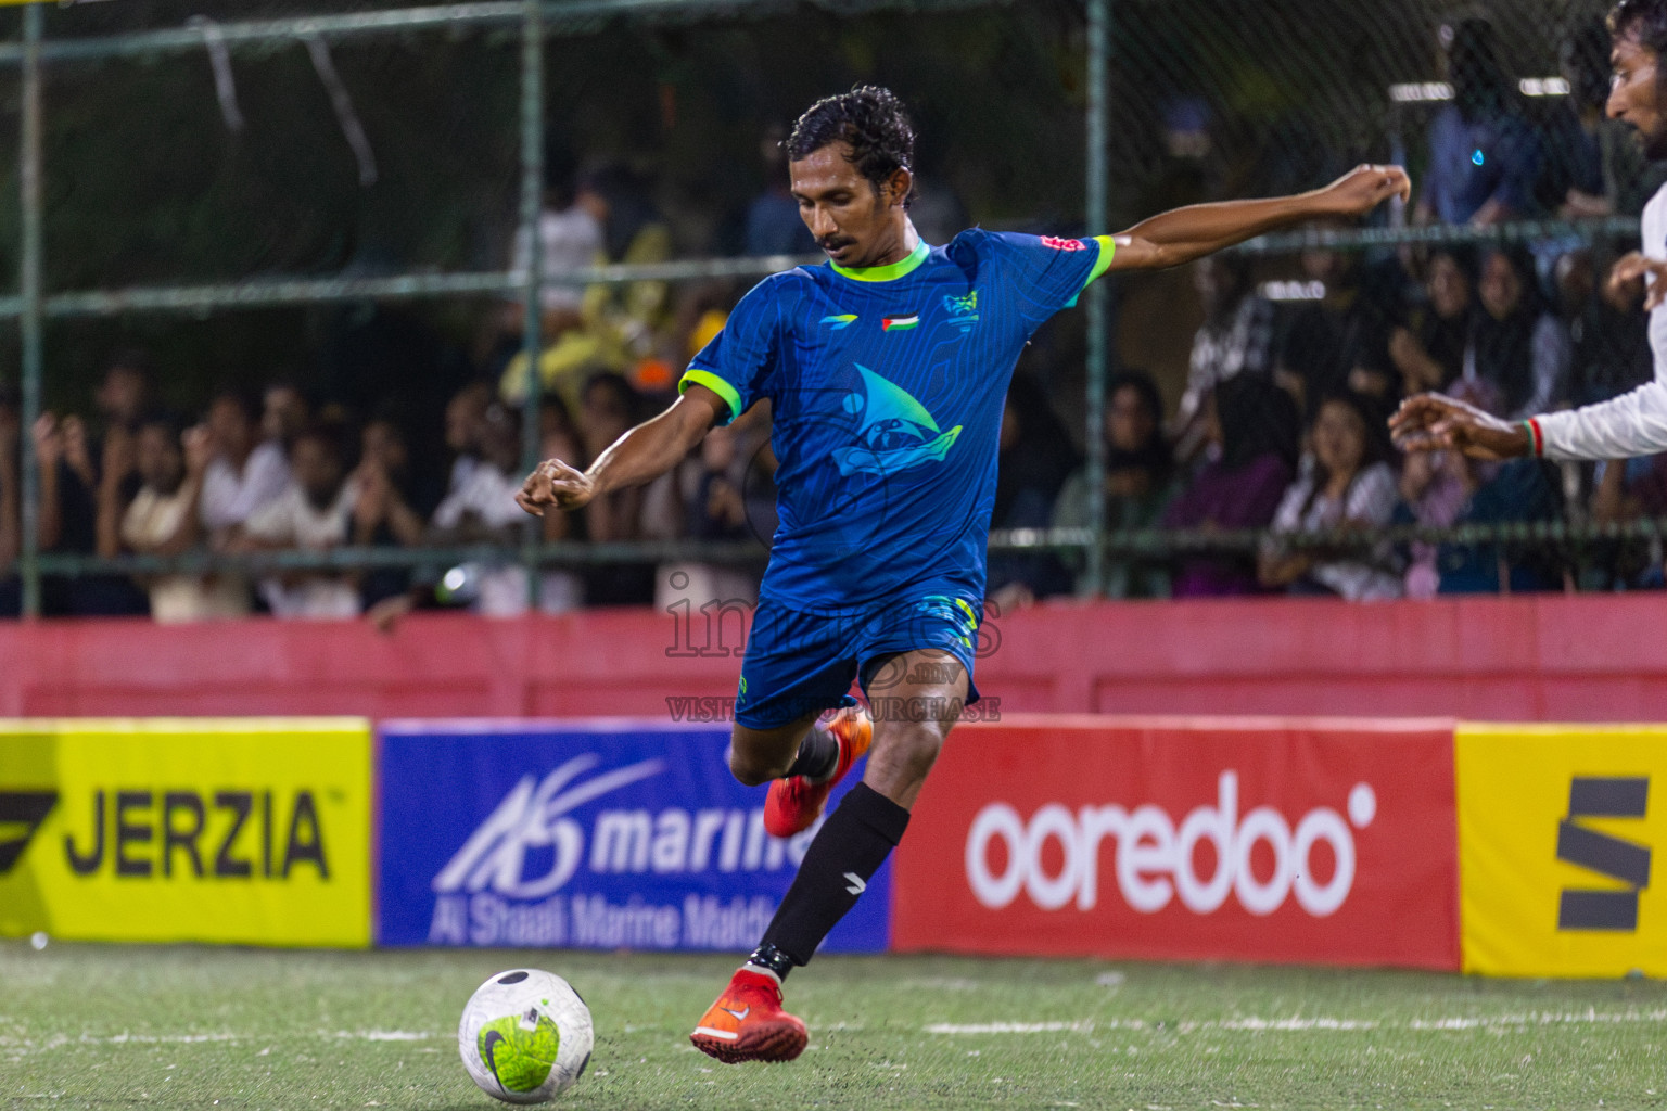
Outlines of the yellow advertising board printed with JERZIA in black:
M 0 721 L 0 934 L 370 944 L 370 723 Z

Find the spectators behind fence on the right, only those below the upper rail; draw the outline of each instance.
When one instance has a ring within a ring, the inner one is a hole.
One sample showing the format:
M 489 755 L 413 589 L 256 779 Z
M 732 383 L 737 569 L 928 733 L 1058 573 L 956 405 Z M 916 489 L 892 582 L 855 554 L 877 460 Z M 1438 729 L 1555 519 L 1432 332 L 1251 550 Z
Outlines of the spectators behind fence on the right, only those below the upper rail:
M 1104 581 L 1072 581 L 1054 560 L 992 563 L 992 596 L 1024 605 L 1057 593 L 1110 596 L 1335 595 L 1429 598 L 1660 585 L 1660 555 L 1639 565 L 1620 545 L 1569 553 L 1547 546 L 1350 543 L 1387 525 L 1599 520 L 1667 510 L 1667 460 L 1582 468 L 1542 460 L 1477 463 L 1452 453 L 1400 456 L 1385 421 L 1402 396 L 1444 390 L 1519 418 L 1599 401 L 1652 373 L 1642 286 L 1602 288 L 1605 260 L 1589 247 L 1435 248 L 1379 262 L 1304 255 L 1315 300 L 1259 295 L 1242 258 L 1195 263 L 1205 323 L 1187 390 L 1165 415 L 1150 375 L 1125 370 L 1105 401 L 1104 520 L 1114 530 L 1267 530 L 1254 553 L 1112 560 Z M 1317 283 L 1317 285 L 1315 285 Z M 1084 526 L 1089 488 L 1062 440 L 1015 381 L 1004 433 L 995 526 Z M 1024 430 L 1040 426 L 1029 458 Z M 1009 445 L 1012 448 L 1009 450 Z M 1069 453 L 1067 453 L 1069 455 Z M 1012 488 L 1009 488 L 1012 486 Z M 1004 511 L 1004 505 L 1009 506 Z M 1282 533 L 1337 533 L 1334 548 L 1280 543 Z M 1579 556 L 1579 558 L 1577 558 Z

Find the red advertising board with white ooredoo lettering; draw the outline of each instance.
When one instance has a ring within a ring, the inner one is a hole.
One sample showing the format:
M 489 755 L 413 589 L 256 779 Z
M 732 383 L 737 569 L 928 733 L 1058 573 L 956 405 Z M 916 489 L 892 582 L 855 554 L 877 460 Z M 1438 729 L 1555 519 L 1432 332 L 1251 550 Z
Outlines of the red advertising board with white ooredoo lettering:
M 1454 725 L 970 725 L 894 861 L 905 953 L 1457 969 Z

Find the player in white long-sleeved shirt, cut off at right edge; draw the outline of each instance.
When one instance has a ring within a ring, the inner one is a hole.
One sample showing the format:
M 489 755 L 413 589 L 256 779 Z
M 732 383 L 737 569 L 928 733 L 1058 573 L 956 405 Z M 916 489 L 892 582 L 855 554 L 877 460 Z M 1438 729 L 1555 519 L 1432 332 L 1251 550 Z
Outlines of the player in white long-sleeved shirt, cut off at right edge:
M 1667 158 L 1667 0 L 1620 0 L 1609 15 L 1615 70 L 1609 115 L 1637 128 L 1644 155 Z M 1667 451 L 1667 187 L 1644 207 L 1642 252 L 1615 263 L 1612 286 L 1644 280 L 1655 378 L 1610 401 L 1504 421 L 1439 393 L 1400 403 L 1389 426 L 1407 451 L 1479 460 L 1620 460 Z

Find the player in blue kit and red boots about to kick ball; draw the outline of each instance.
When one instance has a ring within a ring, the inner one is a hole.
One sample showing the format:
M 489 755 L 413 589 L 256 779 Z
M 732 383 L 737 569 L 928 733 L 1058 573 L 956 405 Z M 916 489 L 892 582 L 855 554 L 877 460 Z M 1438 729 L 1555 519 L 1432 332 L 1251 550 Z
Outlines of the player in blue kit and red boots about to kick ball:
M 730 771 L 768 783 L 765 830 L 792 836 L 869 761 L 690 1036 L 725 1063 L 803 1051 L 808 1033 L 782 1008 L 782 984 L 902 839 L 944 740 L 979 696 L 997 441 L 1032 333 L 1102 273 L 1180 265 L 1410 192 L 1399 167 L 1359 167 L 1309 193 L 1192 205 L 1117 235 L 972 228 L 932 247 L 909 220 L 914 142 L 889 90 L 812 105 L 783 145 L 827 265 L 760 281 L 693 358 L 670 408 L 585 470 L 545 460 L 517 498 L 535 515 L 578 510 L 652 481 L 713 426 L 770 403 L 780 526 L 747 640 Z M 854 680 L 872 715 L 850 698 Z

